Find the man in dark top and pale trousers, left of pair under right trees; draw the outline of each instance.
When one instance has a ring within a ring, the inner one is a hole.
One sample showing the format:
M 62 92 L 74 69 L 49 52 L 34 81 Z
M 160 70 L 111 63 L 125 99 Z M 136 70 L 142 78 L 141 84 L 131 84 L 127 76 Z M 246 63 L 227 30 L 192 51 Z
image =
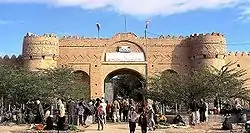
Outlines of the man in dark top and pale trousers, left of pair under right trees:
M 199 105 L 195 99 L 190 104 L 190 110 L 192 112 L 192 125 L 199 123 Z

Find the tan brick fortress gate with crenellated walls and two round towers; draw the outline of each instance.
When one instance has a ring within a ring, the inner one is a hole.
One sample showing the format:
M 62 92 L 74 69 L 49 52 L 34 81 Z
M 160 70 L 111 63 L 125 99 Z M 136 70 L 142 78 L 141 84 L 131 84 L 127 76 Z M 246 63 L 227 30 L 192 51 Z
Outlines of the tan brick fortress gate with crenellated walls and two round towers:
M 220 33 L 158 38 L 138 37 L 131 32 L 112 38 L 27 33 L 21 56 L 0 58 L 1 64 L 22 65 L 32 71 L 72 67 L 89 82 L 93 98 L 107 95 L 109 79 L 118 74 L 143 80 L 165 70 L 188 73 L 204 65 L 220 68 L 228 62 L 237 62 L 232 67 L 247 69 L 246 76 L 250 77 L 250 53 L 227 52 L 226 38 Z

